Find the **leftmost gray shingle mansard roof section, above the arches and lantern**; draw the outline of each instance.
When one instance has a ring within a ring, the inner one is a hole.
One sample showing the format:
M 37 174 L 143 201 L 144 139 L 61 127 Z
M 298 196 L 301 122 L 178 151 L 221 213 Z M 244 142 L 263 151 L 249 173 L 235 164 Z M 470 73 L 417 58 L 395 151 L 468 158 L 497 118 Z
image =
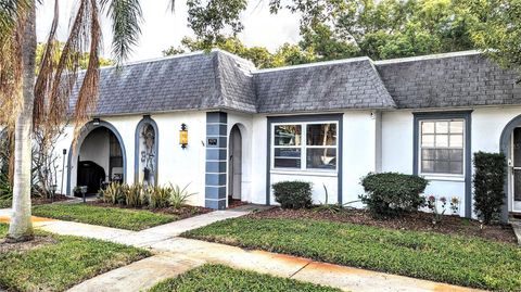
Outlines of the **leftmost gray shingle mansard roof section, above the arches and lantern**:
M 94 115 L 233 109 L 255 112 L 249 64 L 220 51 L 100 69 Z M 78 77 L 81 80 L 81 74 Z M 78 88 L 71 98 L 71 109 Z

